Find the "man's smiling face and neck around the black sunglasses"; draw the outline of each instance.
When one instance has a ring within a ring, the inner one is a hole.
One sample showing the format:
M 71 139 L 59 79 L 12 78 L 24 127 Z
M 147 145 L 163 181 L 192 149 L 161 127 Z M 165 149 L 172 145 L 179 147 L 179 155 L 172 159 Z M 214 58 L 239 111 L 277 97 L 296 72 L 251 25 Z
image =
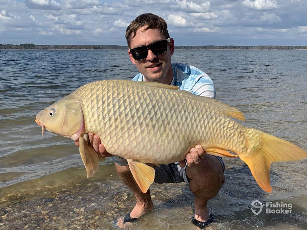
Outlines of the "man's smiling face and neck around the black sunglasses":
M 141 27 L 137 30 L 136 35 L 131 40 L 130 48 L 137 48 L 144 45 L 149 45 L 157 41 L 165 40 L 165 37 L 159 29 L 144 30 Z M 171 66 L 171 55 L 174 53 L 174 40 L 168 43 L 166 53 L 154 55 L 151 49 L 148 49 L 148 55 L 143 60 L 135 60 L 128 50 L 131 62 L 136 65 L 138 71 L 144 75 L 147 81 L 161 82 L 170 84 L 173 80 L 173 70 Z

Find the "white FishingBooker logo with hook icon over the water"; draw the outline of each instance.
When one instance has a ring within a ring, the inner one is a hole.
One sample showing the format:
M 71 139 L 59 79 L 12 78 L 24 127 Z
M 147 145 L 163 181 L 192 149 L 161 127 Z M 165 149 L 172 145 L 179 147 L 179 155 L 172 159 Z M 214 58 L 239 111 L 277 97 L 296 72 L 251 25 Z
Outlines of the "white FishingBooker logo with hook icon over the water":
M 259 215 L 262 212 L 263 207 L 266 210 L 266 214 L 291 214 L 292 213 L 292 203 L 283 202 L 266 202 L 262 204 L 261 201 L 253 201 L 251 203 L 255 209 L 251 208 L 251 211 L 255 215 Z

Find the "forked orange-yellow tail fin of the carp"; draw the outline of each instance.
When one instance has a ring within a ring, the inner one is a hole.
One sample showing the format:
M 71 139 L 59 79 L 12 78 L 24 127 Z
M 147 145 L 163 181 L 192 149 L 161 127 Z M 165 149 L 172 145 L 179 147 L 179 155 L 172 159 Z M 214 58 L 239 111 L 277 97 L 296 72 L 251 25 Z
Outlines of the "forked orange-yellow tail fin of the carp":
M 250 131 L 250 132 L 249 132 Z M 260 146 L 251 155 L 240 156 L 251 170 L 258 185 L 266 192 L 271 192 L 270 186 L 270 167 L 272 162 L 297 161 L 307 158 L 307 152 L 276 136 L 247 128 L 246 136 L 252 144 L 251 136 L 255 131 L 260 135 Z

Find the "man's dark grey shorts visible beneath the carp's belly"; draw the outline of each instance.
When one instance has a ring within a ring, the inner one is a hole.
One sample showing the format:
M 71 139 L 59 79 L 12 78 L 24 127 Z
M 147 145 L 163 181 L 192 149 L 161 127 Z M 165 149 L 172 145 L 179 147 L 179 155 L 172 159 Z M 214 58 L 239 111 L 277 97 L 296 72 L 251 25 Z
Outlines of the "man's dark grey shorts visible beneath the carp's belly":
M 225 164 L 223 162 L 222 157 L 215 156 L 221 163 L 223 167 L 223 172 L 225 170 Z M 111 157 L 112 160 L 117 163 L 119 166 L 126 166 L 128 162 L 126 159 L 122 159 L 118 156 Z M 160 164 L 160 167 L 154 166 L 155 177 L 153 182 L 158 184 L 163 183 L 181 183 L 186 182 L 189 183 L 190 179 L 187 177 L 185 169 L 187 167 L 187 163 L 185 163 L 185 167 L 181 168 L 179 166 L 179 162 L 171 163 L 171 164 Z

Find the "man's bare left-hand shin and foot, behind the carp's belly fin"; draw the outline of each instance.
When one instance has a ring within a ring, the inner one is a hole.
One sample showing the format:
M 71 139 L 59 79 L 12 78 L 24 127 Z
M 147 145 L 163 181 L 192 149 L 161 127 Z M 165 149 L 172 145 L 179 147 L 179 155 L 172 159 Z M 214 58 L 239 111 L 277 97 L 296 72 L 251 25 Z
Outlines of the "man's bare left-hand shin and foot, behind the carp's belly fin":
M 115 168 L 122 179 L 122 181 L 131 189 L 136 198 L 136 205 L 130 213 L 131 218 L 140 218 L 143 214 L 153 209 L 153 202 L 150 197 L 150 191 L 148 189 L 147 193 L 143 193 L 139 188 L 138 184 L 135 182 L 129 166 L 119 166 L 115 163 Z M 129 223 L 123 224 L 124 218 L 121 217 L 117 221 L 117 225 L 121 228 L 127 227 Z

